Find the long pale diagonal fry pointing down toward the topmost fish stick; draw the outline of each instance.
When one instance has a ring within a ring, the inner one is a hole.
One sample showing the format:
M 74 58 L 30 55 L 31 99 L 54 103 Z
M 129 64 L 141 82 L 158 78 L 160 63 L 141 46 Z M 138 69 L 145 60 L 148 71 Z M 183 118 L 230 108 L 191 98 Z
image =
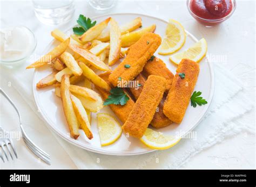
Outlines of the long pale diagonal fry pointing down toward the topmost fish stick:
M 83 49 L 82 47 L 79 47 L 77 45 L 70 45 L 70 48 L 73 52 L 82 56 L 93 67 L 102 71 L 110 70 L 109 67 L 104 62 L 99 60 L 99 57 L 87 51 L 86 49 Z

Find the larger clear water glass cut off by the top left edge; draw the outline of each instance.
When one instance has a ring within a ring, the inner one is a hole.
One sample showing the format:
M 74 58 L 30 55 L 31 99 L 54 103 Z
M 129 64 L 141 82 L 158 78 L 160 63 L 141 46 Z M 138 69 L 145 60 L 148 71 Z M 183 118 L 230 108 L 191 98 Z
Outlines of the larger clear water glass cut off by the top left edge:
M 32 0 L 36 17 L 46 25 L 57 25 L 69 21 L 75 12 L 73 0 Z

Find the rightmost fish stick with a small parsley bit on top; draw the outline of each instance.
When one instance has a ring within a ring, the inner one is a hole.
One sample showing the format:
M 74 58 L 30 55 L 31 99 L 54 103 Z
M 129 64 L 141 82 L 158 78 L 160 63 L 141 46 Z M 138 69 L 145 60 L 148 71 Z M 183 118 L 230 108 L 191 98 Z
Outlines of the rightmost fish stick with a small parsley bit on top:
M 182 79 L 179 73 L 184 73 L 185 78 Z M 188 59 L 181 60 L 164 103 L 164 114 L 174 123 L 180 124 L 183 120 L 197 83 L 198 74 L 199 64 L 197 62 Z

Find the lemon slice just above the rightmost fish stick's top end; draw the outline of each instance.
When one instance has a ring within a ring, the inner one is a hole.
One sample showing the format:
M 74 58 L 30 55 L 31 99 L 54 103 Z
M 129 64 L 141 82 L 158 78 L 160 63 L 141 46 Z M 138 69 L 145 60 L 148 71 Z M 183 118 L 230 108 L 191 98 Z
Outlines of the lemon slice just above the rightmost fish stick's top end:
M 182 59 L 190 59 L 195 62 L 200 62 L 207 52 L 207 42 L 204 38 L 199 40 L 192 47 L 184 52 L 176 53 L 170 56 L 170 61 L 179 64 Z

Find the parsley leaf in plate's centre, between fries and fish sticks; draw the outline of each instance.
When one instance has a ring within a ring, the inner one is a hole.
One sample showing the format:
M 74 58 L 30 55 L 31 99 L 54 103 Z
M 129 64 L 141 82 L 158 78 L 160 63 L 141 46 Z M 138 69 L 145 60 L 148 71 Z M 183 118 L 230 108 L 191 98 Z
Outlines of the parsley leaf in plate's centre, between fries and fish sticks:
M 112 88 L 110 90 L 110 93 L 111 94 L 109 95 L 109 97 L 107 97 L 103 105 L 120 104 L 123 106 L 126 104 L 127 100 L 130 99 L 122 88 L 118 88 L 118 87 Z

